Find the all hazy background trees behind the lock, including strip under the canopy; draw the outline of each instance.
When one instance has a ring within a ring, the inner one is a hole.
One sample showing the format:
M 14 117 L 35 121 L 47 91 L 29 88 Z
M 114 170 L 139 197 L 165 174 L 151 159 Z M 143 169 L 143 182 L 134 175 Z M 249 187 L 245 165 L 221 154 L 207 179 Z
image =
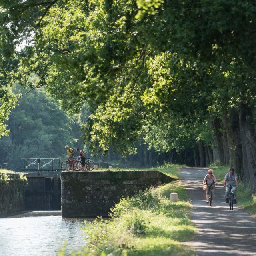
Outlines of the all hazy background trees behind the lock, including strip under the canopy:
M 72 148 L 82 147 L 81 126 L 84 125 L 82 119 L 87 112 L 85 106 L 80 114 L 69 115 L 46 93 L 44 87 L 25 94 L 26 90 L 16 84 L 12 92 L 23 96 L 18 99 L 18 105 L 5 122 L 10 129 L 9 136 L 0 138 L 2 167 L 19 170 L 24 168 L 21 158 L 65 157 L 64 145 L 68 144 Z M 122 154 L 113 153 L 110 147 L 107 157 L 98 154 L 94 160 L 126 167 L 152 167 L 168 161 L 184 162 L 184 159 L 175 153 L 172 156 L 158 155 L 153 150 L 148 150 L 144 143 L 139 143 L 138 152 L 126 158 L 122 158 Z M 88 144 L 82 150 L 86 156 L 91 155 Z

